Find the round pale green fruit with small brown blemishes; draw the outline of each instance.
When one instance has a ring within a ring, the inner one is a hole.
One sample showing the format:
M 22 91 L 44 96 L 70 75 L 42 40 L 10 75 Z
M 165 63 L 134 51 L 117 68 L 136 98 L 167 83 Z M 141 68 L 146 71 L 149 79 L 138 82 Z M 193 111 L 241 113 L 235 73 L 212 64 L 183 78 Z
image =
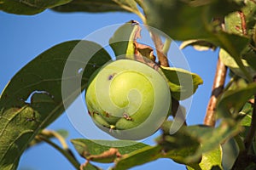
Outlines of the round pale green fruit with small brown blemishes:
M 131 59 L 104 65 L 85 94 L 90 116 L 117 139 L 152 135 L 171 110 L 171 93 L 158 71 Z

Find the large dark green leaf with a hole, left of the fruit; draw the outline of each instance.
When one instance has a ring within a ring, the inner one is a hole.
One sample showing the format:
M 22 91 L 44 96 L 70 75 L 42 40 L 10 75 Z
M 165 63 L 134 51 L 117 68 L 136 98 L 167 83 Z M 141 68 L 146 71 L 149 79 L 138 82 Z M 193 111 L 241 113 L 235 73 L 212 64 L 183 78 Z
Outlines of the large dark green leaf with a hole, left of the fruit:
M 93 51 L 102 48 L 94 42 L 63 42 L 49 48 L 24 66 L 13 77 L 0 97 L 0 167 L 13 169 L 17 166 L 20 155 L 34 136 L 49 123 L 53 122 L 80 94 L 93 71 L 105 64 L 109 55 L 105 50 L 97 52 L 85 67 L 84 75 L 79 74 L 84 62 L 73 62 L 73 71 L 66 82 L 77 82 L 81 87 L 67 92 L 68 98 L 62 99 L 62 72 L 69 54 L 77 45 L 83 50 L 76 50 L 81 59 L 88 59 Z M 75 66 L 76 65 L 76 66 Z M 75 75 L 75 76 L 74 76 Z

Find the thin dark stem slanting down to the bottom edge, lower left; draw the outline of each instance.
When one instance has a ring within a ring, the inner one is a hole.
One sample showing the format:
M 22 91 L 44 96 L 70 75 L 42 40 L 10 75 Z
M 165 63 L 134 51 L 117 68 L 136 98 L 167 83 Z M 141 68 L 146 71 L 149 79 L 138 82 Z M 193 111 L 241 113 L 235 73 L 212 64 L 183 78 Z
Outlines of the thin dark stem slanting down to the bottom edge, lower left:
M 70 161 L 70 163 L 73 165 L 73 167 L 75 167 L 76 169 L 79 169 L 79 166 L 80 166 L 79 161 L 77 161 L 72 155 L 70 155 L 70 152 L 68 150 L 62 149 L 57 144 L 55 144 L 52 141 L 50 141 L 49 139 L 45 138 L 44 135 L 42 135 L 42 134 L 39 134 L 37 136 L 37 138 L 40 139 L 40 140 L 43 140 L 47 144 L 54 147 L 55 150 L 58 150 L 63 156 L 65 156 L 67 158 L 68 161 Z

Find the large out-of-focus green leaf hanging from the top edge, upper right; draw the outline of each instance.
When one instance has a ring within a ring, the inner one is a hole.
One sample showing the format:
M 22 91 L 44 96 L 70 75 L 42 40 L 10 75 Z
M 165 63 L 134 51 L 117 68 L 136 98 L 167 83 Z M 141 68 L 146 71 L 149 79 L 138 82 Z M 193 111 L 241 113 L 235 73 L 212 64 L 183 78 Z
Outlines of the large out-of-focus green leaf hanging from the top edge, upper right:
M 147 0 L 143 9 L 149 26 L 166 32 L 175 40 L 201 39 L 224 48 L 236 60 L 247 80 L 252 81 L 241 62 L 241 53 L 249 38 L 222 31 L 219 20 L 212 22 L 214 18 L 241 9 L 235 1 Z

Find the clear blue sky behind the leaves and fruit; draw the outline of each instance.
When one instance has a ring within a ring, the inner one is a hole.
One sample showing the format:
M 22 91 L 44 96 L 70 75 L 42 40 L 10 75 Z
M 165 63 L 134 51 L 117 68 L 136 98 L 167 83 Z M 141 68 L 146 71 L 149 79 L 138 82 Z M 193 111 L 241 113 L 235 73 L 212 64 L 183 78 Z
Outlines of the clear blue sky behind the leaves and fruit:
M 46 10 L 41 14 L 23 16 L 0 12 L 0 91 L 3 91 L 5 85 L 17 71 L 44 50 L 60 42 L 82 39 L 104 26 L 122 24 L 129 20 L 139 19 L 135 14 L 128 13 L 61 14 Z M 211 94 L 217 53 L 212 51 L 198 52 L 193 48 L 185 48 L 183 54 L 189 62 L 191 71 L 200 75 L 204 81 L 193 97 L 192 106 L 187 116 L 189 125 L 201 124 Z M 69 131 L 67 140 L 84 138 L 69 122 L 65 113 L 49 128 L 54 130 L 67 129 Z M 152 143 L 153 139 L 148 139 L 148 141 L 150 140 L 149 143 Z M 70 143 L 68 142 L 68 144 Z M 73 149 L 71 144 L 70 146 Z M 79 158 L 79 155 L 76 156 Z M 79 158 L 79 161 L 83 162 L 83 159 Z M 108 165 L 100 164 L 100 167 L 106 169 Z M 167 159 L 160 159 L 132 169 L 156 168 L 185 169 L 183 165 Z M 51 146 L 39 144 L 30 150 L 26 150 L 21 157 L 18 169 L 66 170 L 73 169 L 73 167 Z

